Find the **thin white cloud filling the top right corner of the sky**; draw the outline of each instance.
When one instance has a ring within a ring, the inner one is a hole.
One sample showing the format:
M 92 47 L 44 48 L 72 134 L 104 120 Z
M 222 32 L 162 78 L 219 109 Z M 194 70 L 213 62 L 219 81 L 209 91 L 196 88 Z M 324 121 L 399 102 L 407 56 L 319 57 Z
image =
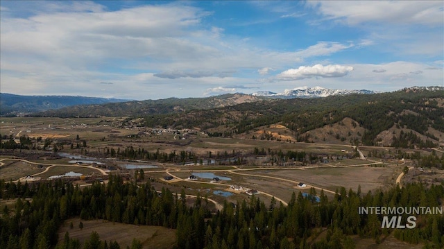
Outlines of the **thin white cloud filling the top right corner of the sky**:
M 318 12 L 311 23 L 359 28 L 363 42 L 377 51 L 411 60 L 411 55 L 442 58 L 444 6 L 442 1 L 307 1 Z M 370 44 L 368 44 L 370 42 Z M 410 56 L 410 57 L 408 57 Z M 415 59 L 418 60 L 418 59 Z

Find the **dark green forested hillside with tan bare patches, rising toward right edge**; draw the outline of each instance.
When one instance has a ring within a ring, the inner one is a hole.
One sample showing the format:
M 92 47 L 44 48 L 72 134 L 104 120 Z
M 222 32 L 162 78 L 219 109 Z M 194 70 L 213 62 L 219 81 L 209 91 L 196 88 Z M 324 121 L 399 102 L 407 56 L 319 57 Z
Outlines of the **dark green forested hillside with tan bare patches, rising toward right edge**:
M 294 98 L 144 117 L 144 125 L 148 127 L 200 128 L 212 136 L 253 139 L 255 136 L 251 134 L 258 129 L 280 124 L 291 130 L 291 136 L 298 141 L 311 141 L 314 137 L 309 137 L 310 131 L 324 128 L 324 132 L 327 132 L 326 126 L 334 126 L 348 118 L 352 120 L 352 126 L 363 129 L 354 135 L 354 139 L 361 144 L 376 145 L 378 136 L 393 128 L 397 130 L 391 132 L 396 134 L 402 147 L 421 144 L 421 141 L 429 141 L 424 147 L 431 147 L 444 142 L 444 88 L 409 88 L 371 95 Z M 390 137 L 392 140 L 389 146 L 393 143 L 393 135 Z M 348 137 L 343 142 L 350 144 L 351 139 Z

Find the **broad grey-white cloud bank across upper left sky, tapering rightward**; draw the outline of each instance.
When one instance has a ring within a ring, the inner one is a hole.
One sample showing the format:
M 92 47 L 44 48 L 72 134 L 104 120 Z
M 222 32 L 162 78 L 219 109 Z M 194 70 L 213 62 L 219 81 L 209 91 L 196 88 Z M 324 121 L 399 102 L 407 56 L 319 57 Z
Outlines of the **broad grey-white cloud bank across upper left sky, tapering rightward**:
M 58 10 L 63 3 L 42 2 L 45 4 Z M 2 18 L 2 62 L 19 64 L 35 60 L 52 64 L 53 70 L 59 67 L 82 71 L 101 67 L 119 71 L 150 69 L 160 71 L 157 76 L 167 78 L 225 77 L 231 75 L 226 72 L 242 68 L 287 67 L 312 56 L 331 55 L 352 46 L 318 42 L 298 51 L 269 51 L 255 48 L 243 38 L 223 37 L 222 28 L 205 29 L 200 22 L 210 14 L 191 6 L 168 4 L 105 12 L 101 11 L 103 7 L 89 2 L 76 4 L 79 11 Z M 179 73 L 174 75 L 175 72 Z

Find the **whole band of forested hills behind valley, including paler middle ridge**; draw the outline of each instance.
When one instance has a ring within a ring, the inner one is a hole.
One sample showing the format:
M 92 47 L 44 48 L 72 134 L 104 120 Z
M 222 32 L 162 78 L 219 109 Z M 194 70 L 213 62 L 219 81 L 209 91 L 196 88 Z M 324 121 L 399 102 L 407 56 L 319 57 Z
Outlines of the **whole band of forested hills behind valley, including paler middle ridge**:
M 279 125 L 289 132 L 287 139 L 295 141 L 403 148 L 444 144 L 444 87 L 279 100 L 225 94 L 75 106 L 39 115 L 143 117 L 140 126 L 199 128 L 210 136 L 250 139 L 273 139 L 265 136 L 266 128 Z M 327 141 L 332 137 L 337 141 Z

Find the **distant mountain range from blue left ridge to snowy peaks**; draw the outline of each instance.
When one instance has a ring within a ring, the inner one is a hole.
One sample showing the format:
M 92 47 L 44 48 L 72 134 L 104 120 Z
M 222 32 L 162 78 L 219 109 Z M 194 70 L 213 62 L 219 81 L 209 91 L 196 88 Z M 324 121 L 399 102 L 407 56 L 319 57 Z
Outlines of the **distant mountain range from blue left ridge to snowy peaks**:
M 369 90 L 346 90 L 346 89 L 327 89 L 323 87 L 298 87 L 295 89 L 286 89 L 282 93 L 275 92 L 255 92 L 253 94 L 223 94 L 219 96 L 210 96 L 207 98 L 165 98 L 160 100 L 131 101 L 119 98 L 94 98 L 85 96 L 24 96 L 17 94 L 0 93 L 0 116 L 15 116 L 17 114 L 30 114 L 35 112 L 46 112 L 48 110 L 60 110 L 76 106 L 74 110 L 85 110 L 92 108 L 88 105 L 95 105 L 96 109 L 107 109 L 107 106 L 101 106 L 106 103 L 128 102 L 135 110 L 140 113 L 152 114 L 158 112 L 171 112 L 176 110 L 191 109 L 211 109 L 221 108 L 240 103 L 255 101 L 264 101 L 267 98 L 319 98 L 335 95 L 347 94 L 374 94 Z M 184 103 L 184 104 L 180 104 Z M 166 106 L 167 105 L 167 106 Z M 172 109 L 171 109 L 172 108 Z M 119 109 L 119 108 L 117 108 Z M 117 111 L 116 108 L 112 110 Z M 125 109 L 125 108 L 123 108 Z M 126 108 L 128 109 L 128 108 Z M 71 112 L 67 110 L 67 112 Z M 110 112 L 101 112 L 103 115 L 110 115 Z M 125 112 L 115 112 L 114 114 L 124 114 Z M 133 112 L 131 112 L 133 114 Z

